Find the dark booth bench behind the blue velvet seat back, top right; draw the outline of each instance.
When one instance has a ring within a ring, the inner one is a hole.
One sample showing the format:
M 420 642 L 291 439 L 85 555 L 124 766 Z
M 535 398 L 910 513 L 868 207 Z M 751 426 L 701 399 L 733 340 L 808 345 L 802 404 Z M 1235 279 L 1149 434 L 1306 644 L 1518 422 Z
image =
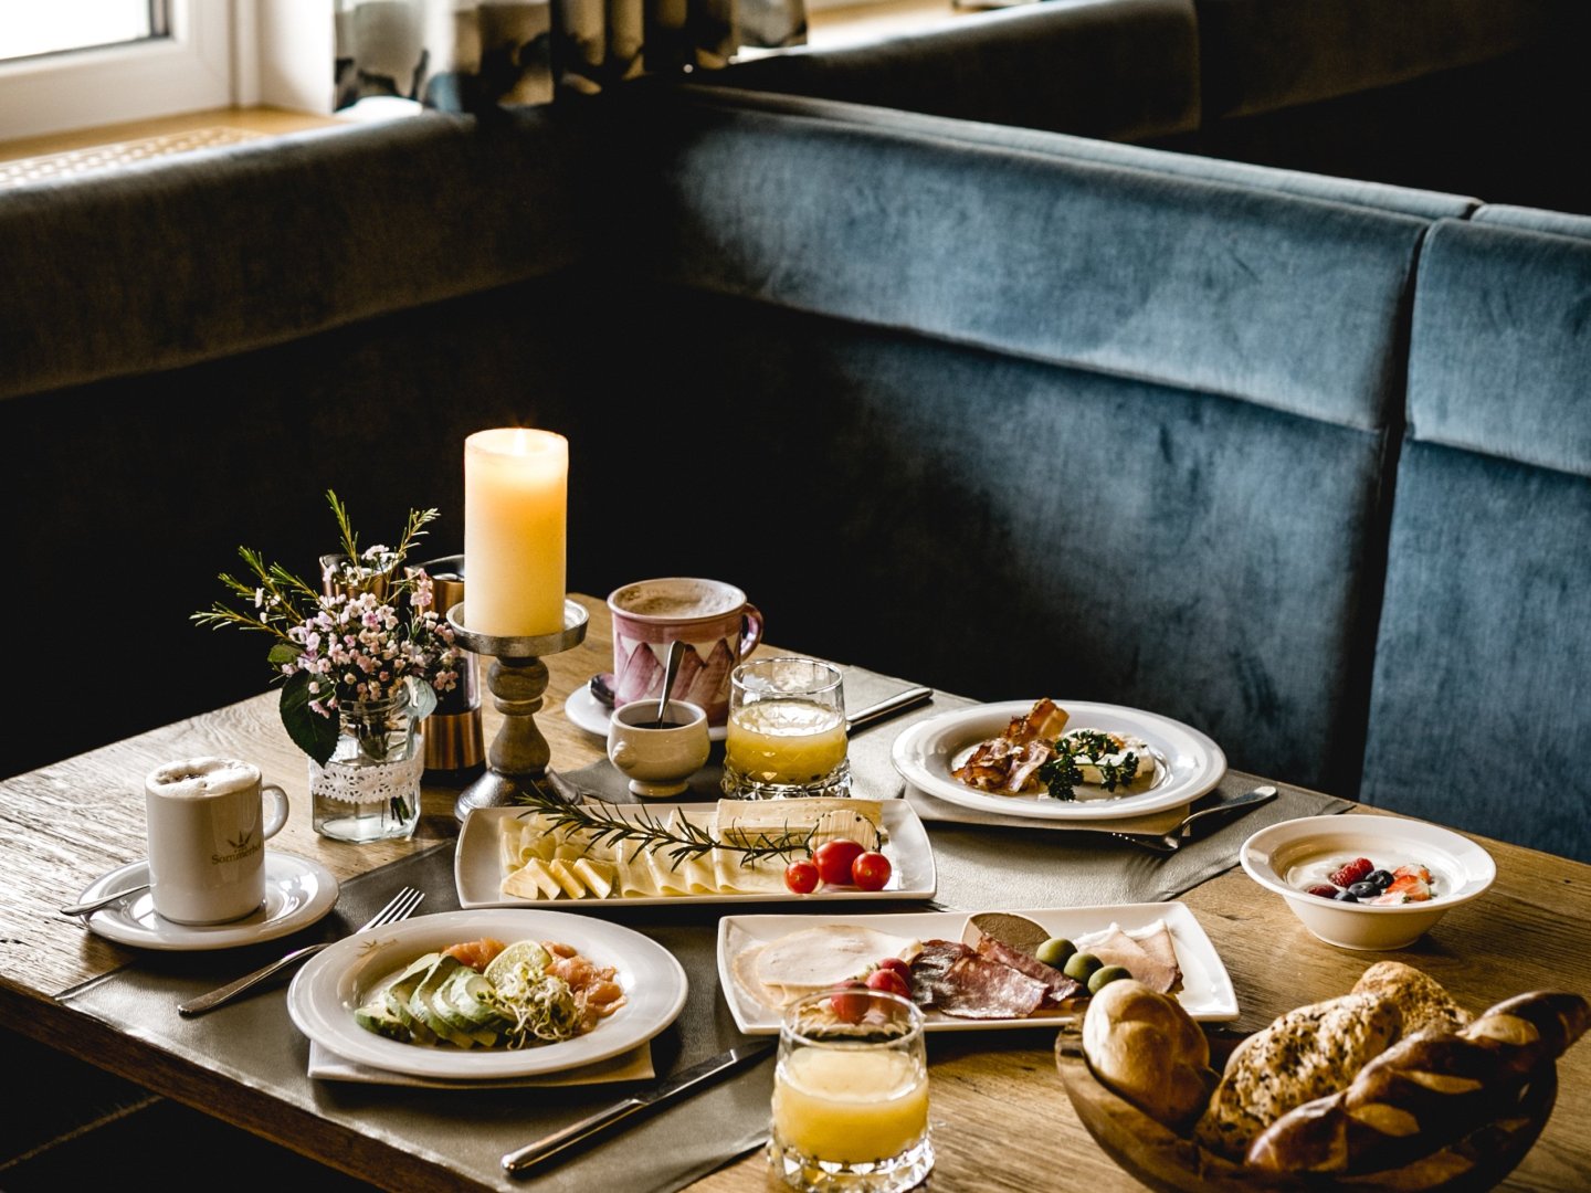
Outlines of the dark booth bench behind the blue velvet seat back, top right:
M 1581 0 L 1042 0 L 708 84 L 1591 215 Z

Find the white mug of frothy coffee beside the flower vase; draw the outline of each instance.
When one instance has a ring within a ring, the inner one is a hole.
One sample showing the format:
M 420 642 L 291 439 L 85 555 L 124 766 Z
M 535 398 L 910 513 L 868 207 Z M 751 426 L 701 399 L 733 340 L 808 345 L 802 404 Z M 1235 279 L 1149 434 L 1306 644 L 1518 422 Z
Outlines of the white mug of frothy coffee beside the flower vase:
M 269 806 L 269 811 L 267 811 Z M 253 762 L 194 757 L 143 781 L 150 896 L 162 919 L 224 924 L 266 902 L 266 838 L 288 819 L 288 797 Z

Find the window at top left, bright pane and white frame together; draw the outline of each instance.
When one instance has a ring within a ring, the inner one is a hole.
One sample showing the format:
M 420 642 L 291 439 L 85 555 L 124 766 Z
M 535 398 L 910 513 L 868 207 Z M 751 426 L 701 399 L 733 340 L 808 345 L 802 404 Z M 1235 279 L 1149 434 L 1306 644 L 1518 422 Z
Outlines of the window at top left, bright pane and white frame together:
M 0 140 L 232 105 L 232 10 L 0 0 Z

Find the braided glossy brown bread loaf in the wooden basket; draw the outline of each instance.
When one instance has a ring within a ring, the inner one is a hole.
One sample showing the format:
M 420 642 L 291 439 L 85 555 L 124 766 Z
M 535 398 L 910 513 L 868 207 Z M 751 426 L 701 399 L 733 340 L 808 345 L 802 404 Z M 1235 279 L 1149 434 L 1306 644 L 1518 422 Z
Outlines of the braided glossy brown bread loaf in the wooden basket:
M 1591 1002 L 1535 991 L 1499 1002 L 1457 1031 L 1432 1028 L 1383 1051 L 1346 1090 L 1305 1102 L 1249 1145 L 1273 1172 L 1378 1172 L 1461 1139 L 1518 1096 L 1538 1064 L 1591 1026 Z

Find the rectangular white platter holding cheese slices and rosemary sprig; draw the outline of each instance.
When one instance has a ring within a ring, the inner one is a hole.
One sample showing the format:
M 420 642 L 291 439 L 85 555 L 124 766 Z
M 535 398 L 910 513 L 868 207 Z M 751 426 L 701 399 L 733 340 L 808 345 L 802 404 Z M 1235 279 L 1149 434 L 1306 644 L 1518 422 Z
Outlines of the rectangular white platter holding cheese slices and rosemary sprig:
M 625 814 L 648 814 L 665 821 L 673 808 L 687 814 L 706 818 L 713 803 L 608 803 L 609 810 Z M 934 849 L 916 810 L 905 800 L 881 800 L 880 811 L 885 827 L 883 854 L 889 859 L 889 883 L 881 891 L 859 891 L 853 886 L 819 888 L 808 896 L 783 891 L 753 894 L 681 894 L 681 896 L 608 896 L 606 899 L 520 899 L 503 894 L 503 821 L 520 816 L 527 808 L 471 808 L 458 830 L 458 846 L 453 851 L 453 883 L 458 888 L 458 905 L 469 907 L 547 907 L 560 911 L 582 911 L 600 907 L 670 907 L 679 903 L 791 903 L 800 900 L 899 900 L 932 899 L 939 888 L 939 872 L 934 867 Z

